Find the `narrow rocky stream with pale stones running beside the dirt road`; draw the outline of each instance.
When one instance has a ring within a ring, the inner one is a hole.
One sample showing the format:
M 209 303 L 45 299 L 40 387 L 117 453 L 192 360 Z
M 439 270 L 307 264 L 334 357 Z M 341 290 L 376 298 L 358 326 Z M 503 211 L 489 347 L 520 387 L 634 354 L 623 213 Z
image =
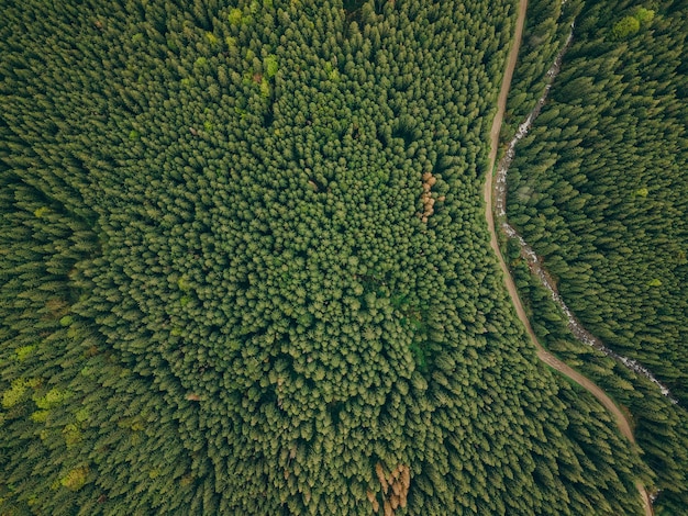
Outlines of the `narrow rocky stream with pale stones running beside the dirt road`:
M 540 111 L 542 110 L 547 99 L 547 96 L 550 94 L 550 90 L 552 89 L 552 82 L 554 81 L 554 79 L 559 72 L 564 54 L 566 54 L 566 51 L 570 46 L 573 38 L 574 38 L 574 23 L 572 23 L 572 31 L 568 37 L 566 38 L 564 46 L 562 47 L 556 58 L 554 59 L 552 67 L 547 70 L 546 77 L 548 80 L 547 80 L 547 85 L 545 86 L 545 89 L 542 96 L 537 100 L 535 108 L 533 108 L 533 110 L 525 117 L 523 123 L 519 125 L 519 128 L 515 135 L 513 136 L 511 142 L 509 142 L 509 146 L 507 147 L 507 152 L 504 153 L 504 156 L 499 161 L 499 166 L 497 167 L 497 179 L 496 179 L 496 187 L 495 187 L 496 214 L 499 221 L 501 222 L 501 228 L 504 232 L 504 234 L 509 238 L 513 238 L 518 240 L 520 248 L 521 248 L 521 256 L 528 261 L 531 271 L 540 278 L 541 283 L 547 289 L 547 291 L 550 291 L 552 300 L 562 309 L 562 311 L 566 315 L 568 329 L 576 336 L 576 338 L 580 340 L 581 343 L 587 344 L 588 346 L 592 346 L 593 348 L 603 352 L 608 357 L 613 358 L 614 360 L 618 360 L 619 362 L 623 363 L 628 369 L 634 371 L 635 373 L 642 374 L 643 377 L 647 378 L 652 383 L 654 383 L 659 389 L 663 395 L 667 396 L 672 401 L 672 403 L 677 404 L 678 400 L 676 400 L 672 395 L 672 392 L 669 391 L 669 389 L 666 385 L 664 385 L 662 382 L 659 382 L 659 380 L 657 380 L 655 375 L 646 367 L 644 367 L 643 364 L 639 363 L 637 361 L 633 359 L 623 357 L 617 354 L 615 351 L 611 350 L 610 348 L 604 346 L 604 344 L 599 338 L 595 337 L 590 332 L 588 332 L 578 322 L 575 314 L 570 311 L 570 309 L 566 305 L 566 303 L 564 302 L 564 300 L 557 292 L 554 285 L 554 282 L 544 270 L 542 261 L 540 260 L 540 258 L 537 257 L 533 248 L 523 239 L 521 235 L 519 235 L 519 233 L 509 224 L 509 222 L 507 222 L 507 190 L 508 190 L 507 189 L 507 173 L 515 156 L 515 146 L 528 134 L 529 130 L 533 125 L 533 122 L 540 114 Z

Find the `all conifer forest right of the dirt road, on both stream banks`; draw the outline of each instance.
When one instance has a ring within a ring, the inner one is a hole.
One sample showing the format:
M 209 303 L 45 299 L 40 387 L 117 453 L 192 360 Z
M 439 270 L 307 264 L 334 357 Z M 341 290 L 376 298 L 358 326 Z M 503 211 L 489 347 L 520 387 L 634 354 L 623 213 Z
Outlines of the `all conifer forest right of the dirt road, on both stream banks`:
M 576 343 L 513 240 L 507 253 L 541 341 L 629 408 L 657 473 L 656 514 L 666 515 L 688 511 L 687 8 L 579 3 L 532 19 L 526 33 L 543 44 L 522 48 L 502 135 L 534 106 L 544 88 L 534 77 L 556 53 L 548 42 L 561 42 L 576 19 L 561 74 L 517 147 L 508 218 L 582 325 L 652 370 L 678 404 Z

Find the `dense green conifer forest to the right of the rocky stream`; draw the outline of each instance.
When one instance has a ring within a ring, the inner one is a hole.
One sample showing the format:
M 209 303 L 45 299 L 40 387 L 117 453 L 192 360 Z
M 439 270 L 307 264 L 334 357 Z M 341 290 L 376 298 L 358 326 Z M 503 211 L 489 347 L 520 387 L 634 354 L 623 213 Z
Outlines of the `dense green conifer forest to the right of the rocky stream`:
M 582 322 L 687 399 L 684 14 L 621 36 L 611 14 L 586 13 L 510 205 Z

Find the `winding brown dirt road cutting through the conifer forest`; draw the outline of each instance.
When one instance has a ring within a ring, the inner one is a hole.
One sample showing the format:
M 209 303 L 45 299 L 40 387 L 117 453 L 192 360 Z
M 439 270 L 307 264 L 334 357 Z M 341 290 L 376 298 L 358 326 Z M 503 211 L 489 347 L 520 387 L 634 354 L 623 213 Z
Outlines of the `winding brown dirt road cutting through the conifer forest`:
M 519 56 L 519 47 L 521 46 L 521 38 L 523 36 L 523 26 L 525 24 L 525 11 L 528 10 L 528 0 L 519 1 L 519 14 L 517 19 L 515 32 L 513 34 L 513 41 L 511 43 L 511 49 L 509 51 L 509 58 L 507 59 L 507 67 L 504 69 L 504 76 L 501 83 L 501 89 L 499 91 L 499 97 L 497 99 L 497 114 L 495 115 L 495 120 L 492 121 L 492 127 L 490 130 L 490 154 L 489 154 L 489 166 L 487 171 L 487 178 L 485 181 L 485 217 L 487 218 L 488 228 L 490 232 L 490 246 L 492 250 L 497 255 L 497 259 L 499 261 L 499 266 L 504 276 L 504 283 L 507 284 L 507 290 L 509 291 L 509 295 L 511 296 L 511 301 L 517 310 L 517 314 L 523 326 L 525 326 L 525 330 L 531 338 L 531 341 L 537 349 L 537 358 L 545 362 L 551 368 L 559 371 L 562 374 L 570 378 L 573 381 L 578 383 L 580 386 L 586 389 L 590 394 L 599 400 L 599 402 L 612 414 L 614 420 L 617 422 L 617 426 L 621 434 L 623 434 L 626 439 L 631 442 L 635 442 L 635 437 L 633 436 L 633 431 L 631 430 L 631 425 L 629 420 L 625 418 L 623 413 L 619 410 L 619 407 L 614 404 L 614 402 L 602 391 L 599 386 L 597 386 L 592 381 L 588 378 L 580 374 L 578 371 L 574 370 L 558 358 L 547 352 L 535 336 L 535 332 L 531 326 L 528 316 L 525 315 L 525 311 L 523 310 L 523 304 L 521 303 L 521 298 L 519 298 L 519 293 L 517 292 L 515 284 L 513 282 L 513 278 L 511 277 L 507 263 L 504 262 L 504 258 L 501 255 L 501 250 L 499 249 L 499 244 L 497 242 L 497 232 L 495 229 L 495 216 L 493 216 L 493 206 L 492 206 L 492 170 L 495 169 L 495 162 L 497 160 L 497 152 L 499 148 L 499 134 L 501 131 L 501 124 L 504 117 L 504 111 L 507 108 L 507 97 L 509 96 L 509 89 L 511 87 L 511 79 L 513 77 L 513 70 L 515 68 L 517 58 Z M 647 491 L 644 485 L 637 481 L 635 483 L 637 491 L 640 492 L 643 498 L 643 505 L 645 508 L 646 516 L 653 516 L 652 504 L 650 503 L 650 496 L 647 495 Z

